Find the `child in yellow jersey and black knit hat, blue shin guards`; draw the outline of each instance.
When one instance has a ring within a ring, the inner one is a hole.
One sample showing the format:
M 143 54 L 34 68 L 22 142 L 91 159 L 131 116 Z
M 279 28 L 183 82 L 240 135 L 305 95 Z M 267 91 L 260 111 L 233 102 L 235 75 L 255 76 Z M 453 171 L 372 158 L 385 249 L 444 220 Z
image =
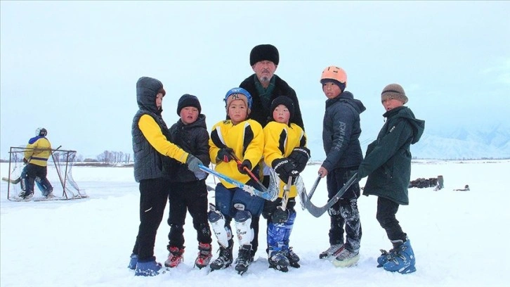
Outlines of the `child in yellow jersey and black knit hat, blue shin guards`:
M 293 184 L 302 172 L 310 151 L 306 148 L 306 134 L 299 125 L 290 122 L 294 116 L 294 102 L 287 96 L 279 96 L 271 103 L 273 121 L 263 128 L 264 161 L 273 167 L 280 177 L 280 193 L 277 200 L 266 200 L 262 215 L 268 220 L 267 242 L 269 267 L 282 272 L 288 266 L 299 268 L 299 256 L 289 247 L 289 237 L 296 219 L 296 186 Z M 284 200 L 284 198 L 287 198 Z

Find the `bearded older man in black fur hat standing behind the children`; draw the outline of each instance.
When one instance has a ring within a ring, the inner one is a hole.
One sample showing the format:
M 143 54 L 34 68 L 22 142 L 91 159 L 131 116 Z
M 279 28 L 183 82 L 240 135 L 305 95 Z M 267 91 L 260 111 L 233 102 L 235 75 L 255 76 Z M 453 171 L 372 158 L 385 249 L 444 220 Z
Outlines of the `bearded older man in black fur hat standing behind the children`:
M 280 55 L 275 46 L 261 44 L 251 49 L 249 64 L 255 73 L 244 79 L 239 86 L 249 91 L 253 100 L 249 118 L 256 120 L 262 127 L 265 127 L 272 118 L 273 112 L 270 107 L 273 100 L 278 96 L 287 96 L 294 102 L 294 116 L 289 124 L 294 123 L 304 129 L 296 91 L 287 82 L 275 75 L 278 63 L 280 63 Z M 310 158 L 308 149 L 301 149 L 301 151 L 306 151 L 305 156 Z M 264 172 L 264 174 L 267 174 L 267 172 Z M 268 182 L 268 176 L 265 176 L 263 184 L 268 186 Z M 254 229 L 254 239 L 251 241 L 252 259 L 259 246 L 259 219 L 260 217 L 251 218 L 251 227 Z

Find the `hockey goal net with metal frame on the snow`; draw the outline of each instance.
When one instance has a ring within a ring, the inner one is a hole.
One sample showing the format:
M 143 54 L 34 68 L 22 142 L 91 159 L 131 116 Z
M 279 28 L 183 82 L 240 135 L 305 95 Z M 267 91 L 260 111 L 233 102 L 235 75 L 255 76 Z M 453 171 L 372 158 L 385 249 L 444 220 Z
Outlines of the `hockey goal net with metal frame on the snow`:
M 22 200 L 18 195 L 22 191 L 21 176 L 26 165 L 23 163 L 23 155 L 27 148 L 11 147 L 9 151 L 8 177 L 2 177 L 6 181 L 7 199 Z M 51 156 L 48 158 L 48 174 L 46 178 L 53 186 L 54 198 L 44 198 L 43 190 L 46 188 L 41 184 L 41 179 L 36 178 L 34 182 L 34 196 L 32 200 L 66 200 L 88 197 L 83 190 L 80 190 L 78 184 L 72 178 L 72 167 L 76 158 L 76 151 L 66 151 L 60 149 L 51 150 Z

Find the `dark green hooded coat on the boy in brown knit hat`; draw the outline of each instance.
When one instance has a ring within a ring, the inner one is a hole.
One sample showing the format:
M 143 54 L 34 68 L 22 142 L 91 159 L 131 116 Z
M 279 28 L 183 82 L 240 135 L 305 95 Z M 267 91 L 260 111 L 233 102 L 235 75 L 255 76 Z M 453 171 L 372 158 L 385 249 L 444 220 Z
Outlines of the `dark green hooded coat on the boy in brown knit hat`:
M 407 186 L 412 158 L 410 146 L 419 141 L 425 121 L 417 120 L 410 108 L 405 106 L 388 110 L 383 116 L 386 123 L 377 139 L 367 147 L 365 160 L 358 170 L 360 177 L 368 176 L 363 194 L 408 205 Z

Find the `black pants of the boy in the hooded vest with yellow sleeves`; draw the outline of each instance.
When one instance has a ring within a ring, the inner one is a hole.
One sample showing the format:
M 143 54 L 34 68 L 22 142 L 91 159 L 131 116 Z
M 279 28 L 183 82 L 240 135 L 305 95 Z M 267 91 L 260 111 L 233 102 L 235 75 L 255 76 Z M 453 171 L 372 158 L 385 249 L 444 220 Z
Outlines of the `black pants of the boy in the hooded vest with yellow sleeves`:
M 133 253 L 139 261 L 151 260 L 154 256 L 156 233 L 163 219 L 168 200 L 167 179 L 140 180 L 140 226 Z

